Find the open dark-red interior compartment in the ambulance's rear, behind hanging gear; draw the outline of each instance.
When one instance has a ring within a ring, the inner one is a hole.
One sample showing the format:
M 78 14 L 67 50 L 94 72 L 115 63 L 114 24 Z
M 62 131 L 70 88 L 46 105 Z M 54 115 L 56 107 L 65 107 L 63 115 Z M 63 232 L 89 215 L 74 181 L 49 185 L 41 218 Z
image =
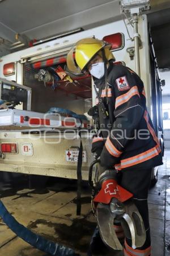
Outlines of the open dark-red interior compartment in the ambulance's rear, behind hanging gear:
M 64 70 L 66 60 L 60 59 L 62 63 L 51 65 L 53 59 L 24 63 L 23 84 L 32 89 L 31 110 L 46 113 L 51 108 L 62 108 L 83 115 L 91 106 L 91 76 L 70 77 L 69 74 L 73 82 L 67 80 L 67 76 L 61 80 L 56 69 Z

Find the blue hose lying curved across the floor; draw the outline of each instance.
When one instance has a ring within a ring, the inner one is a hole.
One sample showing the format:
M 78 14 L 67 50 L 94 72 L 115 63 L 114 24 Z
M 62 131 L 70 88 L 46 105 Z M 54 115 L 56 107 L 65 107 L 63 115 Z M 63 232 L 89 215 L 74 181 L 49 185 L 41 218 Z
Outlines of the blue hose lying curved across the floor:
M 79 256 L 74 250 L 63 246 L 58 245 L 52 241 L 46 240 L 44 237 L 39 236 L 38 234 L 33 233 L 31 230 L 25 228 L 25 226 L 19 224 L 13 216 L 8 212 L 0 200 L 0 216 L 5 222 L 5 224 L 20 238 L 30 245 L 36 247 L 37 249 L 44 251 L 50 255 L 57 256 Z

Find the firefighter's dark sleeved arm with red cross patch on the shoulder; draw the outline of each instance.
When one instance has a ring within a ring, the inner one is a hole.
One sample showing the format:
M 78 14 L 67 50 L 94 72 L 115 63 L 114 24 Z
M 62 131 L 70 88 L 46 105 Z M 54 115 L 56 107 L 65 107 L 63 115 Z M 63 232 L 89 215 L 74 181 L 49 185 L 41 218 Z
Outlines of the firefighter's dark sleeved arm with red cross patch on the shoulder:
M 142 81 L 137 75 L 126 71 L 124 75 L 112 81 L 112 93 L 115 97 L 115 121 L 108 135 L 103 151 L 100 155 L 102 166 L 113 167 L 119 162 L 122 152 L 126 150 L 126 145 L 134 138 L 135 130 L 143 115 L 143 107 L 138 82 Z

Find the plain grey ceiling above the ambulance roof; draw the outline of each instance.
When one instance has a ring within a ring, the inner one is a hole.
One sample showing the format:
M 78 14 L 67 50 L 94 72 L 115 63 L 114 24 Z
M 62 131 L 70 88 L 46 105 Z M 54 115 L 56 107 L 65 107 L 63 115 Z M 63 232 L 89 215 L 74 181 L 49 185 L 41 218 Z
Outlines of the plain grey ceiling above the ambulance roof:
M 117 10 L 118 0 L 3 0 L 0 22 L 6 39 L 16 32 L 40 39 L 120 16 Z

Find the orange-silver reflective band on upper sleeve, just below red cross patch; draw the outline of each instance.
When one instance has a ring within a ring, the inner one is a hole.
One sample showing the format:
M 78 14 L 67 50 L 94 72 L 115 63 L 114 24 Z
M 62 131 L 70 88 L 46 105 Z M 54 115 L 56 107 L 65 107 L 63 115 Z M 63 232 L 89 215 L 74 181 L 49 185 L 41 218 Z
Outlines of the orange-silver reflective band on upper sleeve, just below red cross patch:
M 139 98 L 140 98 L 138 87 L 136 85 L 133 86 L 127 93 L 124 93 L 123 95 L 118 96 L 116 98 L 115 109 L 118 108 L 118 106 L 120 106 L 120 105 L 124 104 L 125 102 L 129 101 L 130 98 L 135 96 L 135 95 L 138 95 Z

